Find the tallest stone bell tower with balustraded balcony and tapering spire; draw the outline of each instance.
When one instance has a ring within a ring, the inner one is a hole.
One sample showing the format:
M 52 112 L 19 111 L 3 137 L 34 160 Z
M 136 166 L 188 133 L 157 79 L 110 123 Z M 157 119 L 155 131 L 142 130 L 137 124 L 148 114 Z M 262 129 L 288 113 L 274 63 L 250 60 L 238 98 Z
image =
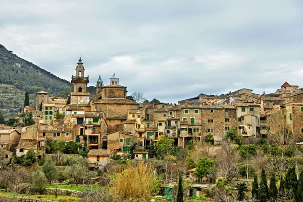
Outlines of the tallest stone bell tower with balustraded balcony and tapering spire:
M 76 76 L 72 75 L 72 83 L 74 84 L 74 93 L 85 93 L 86 85 L 89 83 L 88 76 L 84 76 L 84 66 L 79 59 L 78 65 L 76 67 Z

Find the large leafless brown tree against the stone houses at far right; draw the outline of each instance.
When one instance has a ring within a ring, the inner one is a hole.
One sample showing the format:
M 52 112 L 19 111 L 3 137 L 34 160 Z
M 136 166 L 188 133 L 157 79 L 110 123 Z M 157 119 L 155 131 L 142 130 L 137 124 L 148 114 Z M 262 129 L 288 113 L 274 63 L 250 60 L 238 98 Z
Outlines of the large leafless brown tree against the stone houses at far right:
M 287 146 L 295 139 L 292 128 L 287 123 L 286 109 L 268 115 L 267 125 L 269 141 L 281 149 L 282 157 L 284 157 Z

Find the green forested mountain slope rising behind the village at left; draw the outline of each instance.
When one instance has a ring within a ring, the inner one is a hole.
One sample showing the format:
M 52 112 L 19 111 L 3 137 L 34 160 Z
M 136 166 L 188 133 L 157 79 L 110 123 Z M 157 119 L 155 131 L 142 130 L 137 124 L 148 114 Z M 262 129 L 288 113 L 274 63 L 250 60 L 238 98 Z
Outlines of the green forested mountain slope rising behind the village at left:
M 30 104 L 33 105 L 35 94 L 39 91 L 65 98 L 72 89 L 73 85 L 67 80 L 18 57 L 0 45 L 0 110 L 4 113 L 17 112 L 23 107 L 25 91 L 28 91 Z

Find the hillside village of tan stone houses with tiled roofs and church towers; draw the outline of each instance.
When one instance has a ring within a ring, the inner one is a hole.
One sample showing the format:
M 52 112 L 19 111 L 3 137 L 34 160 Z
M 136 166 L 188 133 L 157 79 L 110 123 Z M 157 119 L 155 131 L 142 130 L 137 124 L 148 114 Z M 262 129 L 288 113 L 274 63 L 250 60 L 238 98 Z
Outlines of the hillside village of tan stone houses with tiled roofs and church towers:
M 81 58 L 71 74 L 74 89 L 67 98 L 53 98 L 40 91 L 36 104 L 24 107 L 35 124 L 21 131 L 1 126 L 0 155 L 5 163 L 30 149 L 43 158 L 49 140 L 81 143 L 92 168 L 103 168 L 113 156 L 128 159 L 130 152 L 138 160 L 152 158 L 150 146 L 163 136 L 180 148 L 207 136 L 220 145 L 229 131 L 235 131 L 243 141 L 254 142 L 273 133 L 269 117 L 278 113 L 283 114 L 295 143 L 303 141 L 303 91 L 287 82 L 270 94 L 243 88 L 219 96 L 201 93 L 178 104 L 144 104 L 128 97 L 127 87 L 119 85 L 118 73 L 113 73 L 108 85 L 105 75 L 99 76 L 92 98 L 86 91 L 89 77 Z M 63 117 L 56 118 L 58 114 Z

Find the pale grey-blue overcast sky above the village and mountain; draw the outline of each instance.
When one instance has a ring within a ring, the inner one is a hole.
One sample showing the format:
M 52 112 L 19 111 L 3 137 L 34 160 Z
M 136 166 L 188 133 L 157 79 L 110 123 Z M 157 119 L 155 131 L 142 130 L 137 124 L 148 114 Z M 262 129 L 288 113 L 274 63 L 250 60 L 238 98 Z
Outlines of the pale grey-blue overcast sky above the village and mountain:
M 115 72 L 128 94 L 162 102 L 248 88 L 303 87 L 303 1 L 10 0 L 0 44 L 70 80 L 79 56 L 94 86 Z

